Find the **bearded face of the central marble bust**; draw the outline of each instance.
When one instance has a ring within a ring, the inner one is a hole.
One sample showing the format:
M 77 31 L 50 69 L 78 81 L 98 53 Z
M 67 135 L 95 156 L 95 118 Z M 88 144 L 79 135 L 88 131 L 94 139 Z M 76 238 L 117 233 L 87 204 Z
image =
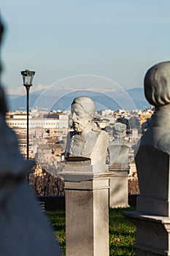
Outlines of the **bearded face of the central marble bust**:
M 92 120 L 91 116 L 85 112 L 84 108 L 78 103 L 72 105 L 72 126 L 74 131 L 82 132 L 88 127 L 89 122 Z

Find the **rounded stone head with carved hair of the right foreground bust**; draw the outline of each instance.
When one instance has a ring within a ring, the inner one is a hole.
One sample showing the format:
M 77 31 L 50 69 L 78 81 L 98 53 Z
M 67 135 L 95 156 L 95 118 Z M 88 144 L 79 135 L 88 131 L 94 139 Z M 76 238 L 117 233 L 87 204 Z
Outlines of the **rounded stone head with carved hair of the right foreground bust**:
M 155 107 L 170 103 L 170 61 L 151 67 L 144 78 L 144 94 Z

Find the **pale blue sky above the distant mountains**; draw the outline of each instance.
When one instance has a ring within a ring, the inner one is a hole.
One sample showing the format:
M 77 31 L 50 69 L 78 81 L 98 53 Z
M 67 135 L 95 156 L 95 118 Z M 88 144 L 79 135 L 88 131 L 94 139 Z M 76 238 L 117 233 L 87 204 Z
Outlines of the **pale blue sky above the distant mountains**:
M 34 85 L 99 75 L 123 88 L 142 87 L 153 64 L 170 60 L 169 0 L 1 0 L 6 26 L 2 82 Z

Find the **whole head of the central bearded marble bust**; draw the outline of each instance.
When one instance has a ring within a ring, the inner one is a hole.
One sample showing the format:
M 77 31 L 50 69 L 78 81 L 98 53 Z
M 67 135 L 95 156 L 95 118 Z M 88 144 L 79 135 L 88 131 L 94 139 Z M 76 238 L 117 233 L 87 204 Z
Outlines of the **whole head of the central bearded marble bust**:
M 96 112 L 95 103 L 89 97 L 77 97 L 72 102 L 73 129 L 82 132 L 92 123 Z

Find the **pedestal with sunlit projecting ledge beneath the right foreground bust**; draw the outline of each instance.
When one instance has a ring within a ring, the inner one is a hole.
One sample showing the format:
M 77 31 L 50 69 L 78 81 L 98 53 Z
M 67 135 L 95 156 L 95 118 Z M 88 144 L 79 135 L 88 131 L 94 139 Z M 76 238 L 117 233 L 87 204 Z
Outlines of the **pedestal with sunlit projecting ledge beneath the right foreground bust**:
M 144 215 L 139 211 L 124 212 L 136 225 L 136 255 L 170 255 L 170 219 L 154 215 Z

